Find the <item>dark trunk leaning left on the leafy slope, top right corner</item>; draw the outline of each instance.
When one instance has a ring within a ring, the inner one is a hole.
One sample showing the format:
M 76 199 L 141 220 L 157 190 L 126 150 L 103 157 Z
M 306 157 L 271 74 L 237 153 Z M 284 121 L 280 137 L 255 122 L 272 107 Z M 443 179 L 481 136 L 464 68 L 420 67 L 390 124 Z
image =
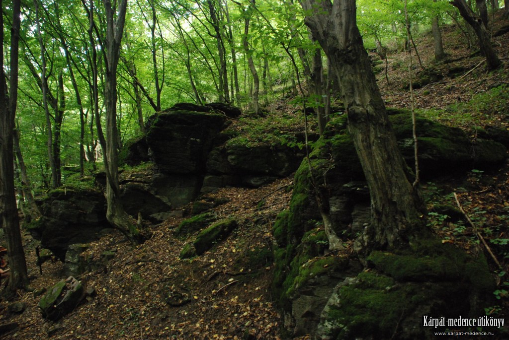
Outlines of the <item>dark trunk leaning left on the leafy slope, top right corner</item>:
M 479 42 L 480 51 L 486 57 L 488 70 L 498 69 L 502 65 L 502 62 L 491 46 L 490 36 L 485 25 L 480 22 L 480 19 L 472 12 L 470 7 L 467 6 L 465 0 L 453 0 L 451 4 L 458 8 L 463 19 L 474 29 Z

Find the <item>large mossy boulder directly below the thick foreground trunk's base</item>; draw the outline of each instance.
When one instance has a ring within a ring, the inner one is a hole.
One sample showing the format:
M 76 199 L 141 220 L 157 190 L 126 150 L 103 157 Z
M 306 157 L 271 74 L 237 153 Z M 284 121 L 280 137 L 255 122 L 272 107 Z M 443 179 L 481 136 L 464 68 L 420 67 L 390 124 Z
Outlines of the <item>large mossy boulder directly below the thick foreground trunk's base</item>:
M 485 257 L 440 240 L 411 249 L 374 251 L 371 267 L 339 284 L 324 308 L 317 336 L 337 339 L 432 339 L 422 316 L 483 315 L 495 289 Z

